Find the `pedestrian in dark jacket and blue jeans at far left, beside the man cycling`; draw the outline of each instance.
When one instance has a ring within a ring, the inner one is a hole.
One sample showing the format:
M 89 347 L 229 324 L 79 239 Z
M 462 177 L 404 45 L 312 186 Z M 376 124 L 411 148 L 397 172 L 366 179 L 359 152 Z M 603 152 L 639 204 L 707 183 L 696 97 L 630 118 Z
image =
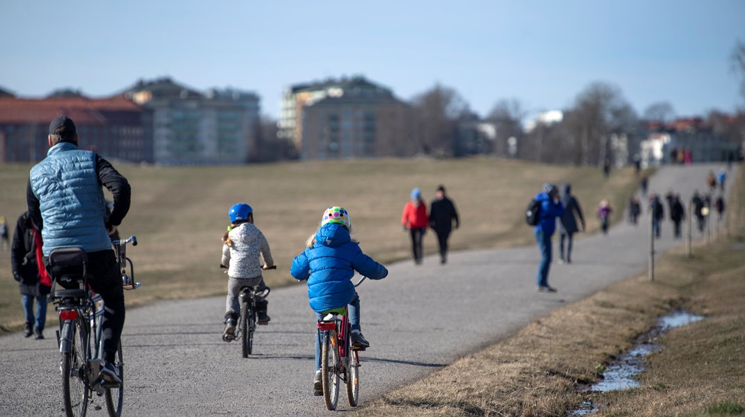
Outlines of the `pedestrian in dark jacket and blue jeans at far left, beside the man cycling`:
M 25 337 L 44 338 L 46 324 L 47 296 L 51 289 L 51 279 L 41 259 L 42 238 L 37 233 L 28 211 L 16 222 L 16 233 L 13 234 L 13 245 L 10 248 L 10 264 L 13 267 L 13 279 L 19 283 L 21 303 L 25 317 Z M 39 268 L 39 265 L 42 267 Z M 37 302 L 34 314 L 34 300 Z

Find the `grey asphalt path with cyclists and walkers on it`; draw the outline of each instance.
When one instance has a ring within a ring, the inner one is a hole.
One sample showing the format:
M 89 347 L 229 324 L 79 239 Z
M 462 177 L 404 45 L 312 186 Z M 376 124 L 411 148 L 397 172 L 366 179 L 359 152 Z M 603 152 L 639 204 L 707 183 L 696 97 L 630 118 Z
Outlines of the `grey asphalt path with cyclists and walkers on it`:
M 683 201 L 690 201 L 694 188 L 704 190 L 706 173 L 719 167 L 665 167 L 651 178 L 649 189 L 664 194 L 673 188 Z M 728 177 L 734 176 L 735 169 Z M 597 221 L 597 202 L 580 203 L 587 221 Z M 666 216 L 667 211 L 666 206 Z M 608 236 L 576 235 L 571 265 L 554 261 L 551 266 L 549 283 L 559 290 L 555 294 L 535 291 L 536 245 L 451 253 L 446 265 L 440 265 L 437 256 L 428 256 L 421 266 L 388 265 L 386 279 L 358 288 L 362 329 L 372 345 L 361 353 L 361 406 L 509 336 L 530 320 L 644 273 L 650 250 L 646 212 L 644 207 L 637 226 L 623 222 Z M 666 220 L 662 239 L 656 240 L 658 253 L 683 244 L 672 235 L 672 224 Z M 694 239 L 706 237 L 694 233 Z M 136 254 L 133 258 L 137 262 Z M 289 262 L 278 261 L 282 268 Z M 215 282 L 220 282 L 221 274 L 216 271 L 216 276 Z M 127 311 L 122 336 L 124 415 L 329 413 L 323 398 L 311 392 L 315 323 L 305 284 L 277 288 L 269 300 L 272 321 L 259 327 L 254 355 L 247 359 L 241 358 L 239 343 L 221 341 L 224 297 L 164 301 Z M 45 332 L 45 340 L 25 339 L 19 333 L 0 337 L 0 416 L 63 415 L 53 330 Z M 340 393 L 338 410 L 352 410 L 345 395 Z M 89 416 L 106 415 L 103 398 L 94 396 Z

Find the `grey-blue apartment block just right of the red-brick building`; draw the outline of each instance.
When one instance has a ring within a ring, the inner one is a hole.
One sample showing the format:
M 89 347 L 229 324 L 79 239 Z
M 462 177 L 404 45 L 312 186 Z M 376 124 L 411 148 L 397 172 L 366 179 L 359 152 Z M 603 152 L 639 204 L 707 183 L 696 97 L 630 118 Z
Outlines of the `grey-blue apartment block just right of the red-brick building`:
M 140 80 L 124 96 L 153 113 L 153 158 L 159 164 L 241 164 L 259 123 L 259 97 L 247 91 L 199 91 L 170 78 Z

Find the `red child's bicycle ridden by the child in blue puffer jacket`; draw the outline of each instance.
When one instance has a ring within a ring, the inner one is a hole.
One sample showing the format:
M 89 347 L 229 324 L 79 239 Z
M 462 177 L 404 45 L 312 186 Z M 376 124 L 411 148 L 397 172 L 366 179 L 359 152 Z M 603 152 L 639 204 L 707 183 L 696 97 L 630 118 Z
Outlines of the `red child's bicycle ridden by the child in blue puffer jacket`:
M 358 287 L 367 277 L 362 277 Z M 349 306 L 323 311 L 326 314 L 317 323 L 321 340 L 321 381 L 326 408 L 336 410 L 339 401 L 339 381 L 346 384 L 349 406 L 359 404 L 360 357 L 359 350 L 352 348 L 352 324 L 349 323 Z M 321 334 L 323 332 L 323 334 Z

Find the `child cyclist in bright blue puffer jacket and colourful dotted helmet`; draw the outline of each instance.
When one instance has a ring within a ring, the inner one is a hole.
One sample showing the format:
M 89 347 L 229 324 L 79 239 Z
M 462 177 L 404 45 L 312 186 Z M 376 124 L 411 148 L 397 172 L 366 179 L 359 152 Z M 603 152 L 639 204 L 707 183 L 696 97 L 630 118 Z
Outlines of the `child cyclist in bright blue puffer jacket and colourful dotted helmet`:
M 383 279 L 388 270 L 362 253 L 359 243 L 349 236 L 351 231 L 349 213 L 342 207 L 329 207 L 316 233 L 308 238 L 305 251 L 293 259 L 290 274 L 300 281 L 308 279 L 308 298 L 318 320 L 324 311 L 349 305 L 352 349 L 364 350 L 370 343 L 360 331 L 360 297 L 351 279 L 355 271 L 370 279 Z M 316 337 L 316 394 L 323 391 L 320 369 L 320 340 Z

